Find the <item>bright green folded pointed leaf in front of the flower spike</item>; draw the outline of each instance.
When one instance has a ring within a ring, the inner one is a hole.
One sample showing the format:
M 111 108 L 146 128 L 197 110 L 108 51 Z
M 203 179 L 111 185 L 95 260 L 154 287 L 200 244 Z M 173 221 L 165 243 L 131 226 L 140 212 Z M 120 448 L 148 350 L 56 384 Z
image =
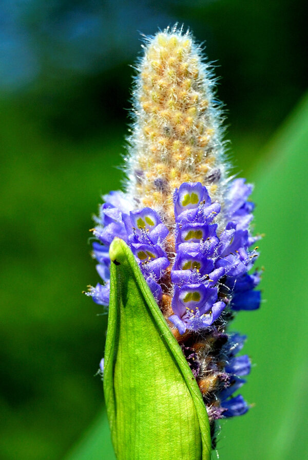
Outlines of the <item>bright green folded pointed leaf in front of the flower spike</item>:
M 198 384 L 128 246 L 110 247 L 104 392 L 118 460 L 208 460 Z

